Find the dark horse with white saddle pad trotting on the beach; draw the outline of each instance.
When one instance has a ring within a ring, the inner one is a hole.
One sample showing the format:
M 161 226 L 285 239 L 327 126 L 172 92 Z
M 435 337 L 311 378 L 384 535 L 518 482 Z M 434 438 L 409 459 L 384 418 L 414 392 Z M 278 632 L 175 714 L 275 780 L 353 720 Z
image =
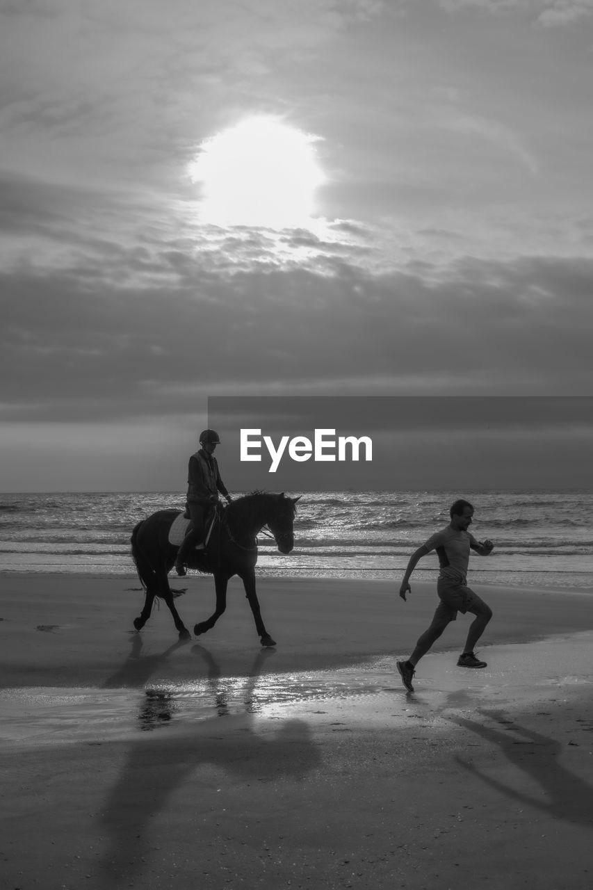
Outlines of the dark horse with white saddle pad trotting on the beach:
M 216 607 L 206 621 L 193 628 L 195 635 L 205 634 L 215 626 L 226 609 L 226 587 L 229 578 L 239 575 L 245 594 L 256 620 L 256 630 L 263 646 L 276 643 L 264 627 L 256 595 L 256 535 L 264 525 L 271 531 L 281 554 L 289 554 L 295 539 L 293 523 L 298 498 L 288 498 L 255 491 L 244 498 L 237 498 L 227 507 L 216 508 L 215 522 L 206 550 L 194 550 L 191 569 L 209 572 L 215 577 Z M 189 639 L 190 632 L 175 609 L 173 593 L 169 587 L 168 572 L 173 567 L 178 547 L 169 543 L 169 529 L 179 516 L 179 510 L 158 510 L 148 519 L 138 522 L 132 532 L 132 558 L 134 559 L 142 587 L 146 591 L 142 613 L 134 619 L 134 627 L 141 630 L 150 618 L 155 596 L 167 603 L 180 639 Z

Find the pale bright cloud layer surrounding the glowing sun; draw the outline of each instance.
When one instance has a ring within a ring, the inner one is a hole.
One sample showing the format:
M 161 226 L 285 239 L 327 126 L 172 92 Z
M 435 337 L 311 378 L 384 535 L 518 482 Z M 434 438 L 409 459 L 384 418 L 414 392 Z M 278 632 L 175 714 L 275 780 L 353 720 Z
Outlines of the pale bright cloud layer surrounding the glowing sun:
M 110 269 L 131 287 L 189 274 L 196 254 L 210 271 L 299 265 L 331 274 L 335 260 L 402 269 L 450 261 L 451 239 L 429 233 L 447 228 L 468 254 L 512 256 L 517 245 L 582 252 L 584 236 L 569 245 L 566 229 L 543 230 L 568 190 L 565 216 L 584 206 L 589 118 L 564 101 L 569 69 L 557 65 L 549 84 L 548 57 L 540 68 L 539 51 L 534 60 L 518 39 L 505 66 L 513 89 L 518 66 L 528 71 L 529 115 L 521 91 L 511 96 L 500 77 L 501 37 L 452 28 L 424 44 L 399 27 L 405 19 L 386 27 L 385 4 L 174 0 L 166 9 L 108 0 L 75 10 L 53 0 L 18 8 L 22 16 L 13 6 L 10 28 L 0 28 L 9 266 L 78 269 L 85 257 L 88 277 Z M 53 17 L 37 18 L 43 10 Z M 397 53 L 387 48 L 392 37 Z M 475 76 L 463 70 L 472 46 L 484 51 Z M 549 111 L 550 89 L 564 112 Z M 329 183 L 318 197 L 327 219 L 314 235 L 198 224 L 200 191 L 184 178 L 187 163 L 204 138 L 252 109 L 301 117 L 323 134 Z

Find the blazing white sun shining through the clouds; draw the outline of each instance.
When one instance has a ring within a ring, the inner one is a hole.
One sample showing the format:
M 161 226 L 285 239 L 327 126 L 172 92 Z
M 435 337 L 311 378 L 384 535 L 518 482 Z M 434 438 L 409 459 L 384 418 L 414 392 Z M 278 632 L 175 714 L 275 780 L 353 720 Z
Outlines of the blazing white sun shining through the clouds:
M 319 138 L 273 117 L 249 117 L 202 142 L 190 165 L 191 181 L 202 186 L 202 221 L 306 228 L 324 181 Z

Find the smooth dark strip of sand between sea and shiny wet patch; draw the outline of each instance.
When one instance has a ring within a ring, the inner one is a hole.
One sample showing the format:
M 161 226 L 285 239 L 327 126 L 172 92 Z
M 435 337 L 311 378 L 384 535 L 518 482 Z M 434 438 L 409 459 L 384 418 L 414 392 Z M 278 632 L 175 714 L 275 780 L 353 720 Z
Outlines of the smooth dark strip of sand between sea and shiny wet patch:
M 186 590 L 175 604 L 192 631 L 214 611 L 214 581 L 193 573 L 173 576 L 170 583 Z M 407 603 L 397 589 L 394 581 L 258 579 L 265 625 L 278 643 L 275 669 L 339 667 L 384 653 L 409 654 L 435 610 L 435 585 L 413 583 Z M 485 585 L 476 590 L 494 611 L 485 645 L 593 629 L 593 596 L 586 592 Z M 129 664 L 132 622 L 144 601 L 135 574 L 0 575 L 0 591 L 0 686 L 101 686 L 111 675 L 119 685 L 144 682 L 142 671 Z M 467 623 L 460 618 L 451 624 L 434 651 L 459 648 Z M 188 680 L 197 670 L 204 673 L 188 650 L 170 651 L 177 634 L 164 603 L 153 609 L 142 639 L 152 646 L 151 673 Z M 246 670 L 259 638 L 238 578 L 229 584 L 223 618 L 199 640 L 214 647 L 225 673 Z

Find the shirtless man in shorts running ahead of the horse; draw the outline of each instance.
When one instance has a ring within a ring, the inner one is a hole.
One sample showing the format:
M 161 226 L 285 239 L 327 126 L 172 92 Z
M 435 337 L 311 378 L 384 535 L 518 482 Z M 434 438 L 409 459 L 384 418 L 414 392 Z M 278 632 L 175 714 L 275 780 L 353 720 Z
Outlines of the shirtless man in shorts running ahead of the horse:
M 400 596 L 405 601 L 406 594 L 411 593 L 410 575 L 416 568 L 418 560 L 431 550 L 436 550 L 441 568 L 436 582 L 436 592 L 441 602 L 436 607 L 430 627 L 419 637 L 410 658 L 407 661 L 397 662 L 402 684 L 409 692 L 414 692 L 412 677 L 418 661 L 426 655 L 449 622 L 457 619 L 458 611 L 463 615 L 467 611 L 471 612 L 475 615 L 475 619 L 469 626 L 466 644 L 457 663 L 459 667 L 486 667 L 485 661 L 475 658 L 474 646 L 483 635 L 492 617 L 492 611 L 490 606 L 467 587 L 466 574 L 470 548 L 480 556 L 488 556 L 494 545 L 487 539 L 481 544 L 467 531 L 474 515 L 474 507 L 467 500 L 455 501 L 451 506 L 450 515 L 449 525 L 442 531 L 437 531 L 432 538 L 428 538 L 426 544 L 411 554 L 400 587 Z

